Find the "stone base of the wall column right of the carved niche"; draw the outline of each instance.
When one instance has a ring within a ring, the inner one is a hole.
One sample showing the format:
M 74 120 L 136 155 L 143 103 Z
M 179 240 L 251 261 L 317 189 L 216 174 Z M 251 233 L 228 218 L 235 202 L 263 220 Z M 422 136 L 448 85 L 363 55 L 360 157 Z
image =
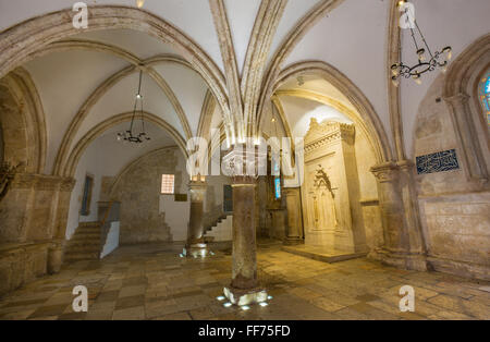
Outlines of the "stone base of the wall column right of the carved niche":
M 409 254 L 404 252 L 392 252 L 384 248 L 372 251 L 370 258 L 380 260 L 381 262 L 401 269 L 428 271 L 427 257 L 422 254 Z

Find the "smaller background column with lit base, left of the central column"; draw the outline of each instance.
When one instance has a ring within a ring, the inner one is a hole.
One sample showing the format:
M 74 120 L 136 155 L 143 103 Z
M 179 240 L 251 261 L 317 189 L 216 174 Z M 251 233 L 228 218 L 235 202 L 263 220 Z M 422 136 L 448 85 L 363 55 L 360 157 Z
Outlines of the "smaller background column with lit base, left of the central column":
M 207 245 L 204 241 L 204 198 L 206 195 L 206 181 L 201 176 L 195 176 L 188 183 L 191 193 L 191 217 L 187 227 L 187 243 L 185 255 L 189 257 L 206 256 Z

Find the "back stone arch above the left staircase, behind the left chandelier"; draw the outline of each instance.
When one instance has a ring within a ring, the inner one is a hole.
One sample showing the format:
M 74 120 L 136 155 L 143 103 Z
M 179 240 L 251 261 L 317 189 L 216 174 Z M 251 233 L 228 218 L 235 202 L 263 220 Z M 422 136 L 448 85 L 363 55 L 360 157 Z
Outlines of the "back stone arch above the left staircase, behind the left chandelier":
M 60 170 L 60 175 L 68 175 L 73 178 L 76 171 L 76 167 L 78 164 L 78 160 L 82 157 L 85 149 L 90 145 L 90 143 L 94 142 L 97 137 L 99 137 L 105 131 L 109 130 L 110 127 L 113 127 L 123 122 L 131 121 L 132 117 L 133 112 L 118 114 L 106 121 L 102 121 L 101 123 L 93 127 L 87 134 L 84 135 L 84 137 L 82 137 L 76 143 L 75 147 L 72 149 L 70 155 L 62 159 L 66 161 L 60 166 L 57 166 L 57 168 Z M 157 126 L 161 127 L 163 131 L 169 133 L 170 136 L 175 141 L 179 148 L 182 150 L 184 157 L 187 157 L 185 141 L 180 135 L 180 133 L 175 131 L 175 129 L 173 129 L 172 125 L 170 125 L 163 119 L 148 112 L 144 113 L 144 119 L 156 124 Z

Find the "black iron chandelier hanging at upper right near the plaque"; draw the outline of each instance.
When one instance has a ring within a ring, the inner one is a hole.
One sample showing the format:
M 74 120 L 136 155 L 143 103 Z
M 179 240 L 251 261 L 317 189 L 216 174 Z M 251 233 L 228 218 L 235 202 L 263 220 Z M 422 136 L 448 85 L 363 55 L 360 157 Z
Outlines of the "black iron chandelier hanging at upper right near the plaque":
M 411 29 L 411 36 L 414 40 L 418 63 L 413 66 L 404 64 L 402 62 L 402 53 L 400 52 L 401 61 L 391 65 L 391 72 L 393 74 L 391 80 L 394 86 L 399 86 L 401 77 L 413 78 L 415 83 L 421 84 L 420 76 L 422 74 L 433 71 L 437 68 L 440 68 L 442 72 L 445 72 L 448 69 L 448 63 L 452 58 L 452 49 L 449 46 L 443 48 L 441 51 L 436 51 L 432 53 L 424 34 L 420 30 L 420 27 L 417 24 L 417 21 L 415 20 L 413 12 L 414 7 L 413 4 L 407 5 L 407 2 L 408 1 L 406 0 L 399 1 L 399 11 L 404 12 L 404 27 Z

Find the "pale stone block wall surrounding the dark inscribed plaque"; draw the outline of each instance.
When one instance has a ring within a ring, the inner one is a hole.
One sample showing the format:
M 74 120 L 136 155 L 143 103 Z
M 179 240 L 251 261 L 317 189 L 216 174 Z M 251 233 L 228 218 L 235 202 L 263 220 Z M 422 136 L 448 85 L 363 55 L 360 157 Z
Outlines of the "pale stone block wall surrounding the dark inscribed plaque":
M 457 123 L 441 98 L 443 85 L 441 75 L 429 88 L 414 132 L 414 162 L 418 156 L 455 149 L 460 164 L 456 170 L 415 178 L 428 257 L 436 270 L 488 279 L 490 192 L 488 183 L 468 178 L 465 151 L 456 139 Z M 488 156 L 488 147 L 480 146 Z

